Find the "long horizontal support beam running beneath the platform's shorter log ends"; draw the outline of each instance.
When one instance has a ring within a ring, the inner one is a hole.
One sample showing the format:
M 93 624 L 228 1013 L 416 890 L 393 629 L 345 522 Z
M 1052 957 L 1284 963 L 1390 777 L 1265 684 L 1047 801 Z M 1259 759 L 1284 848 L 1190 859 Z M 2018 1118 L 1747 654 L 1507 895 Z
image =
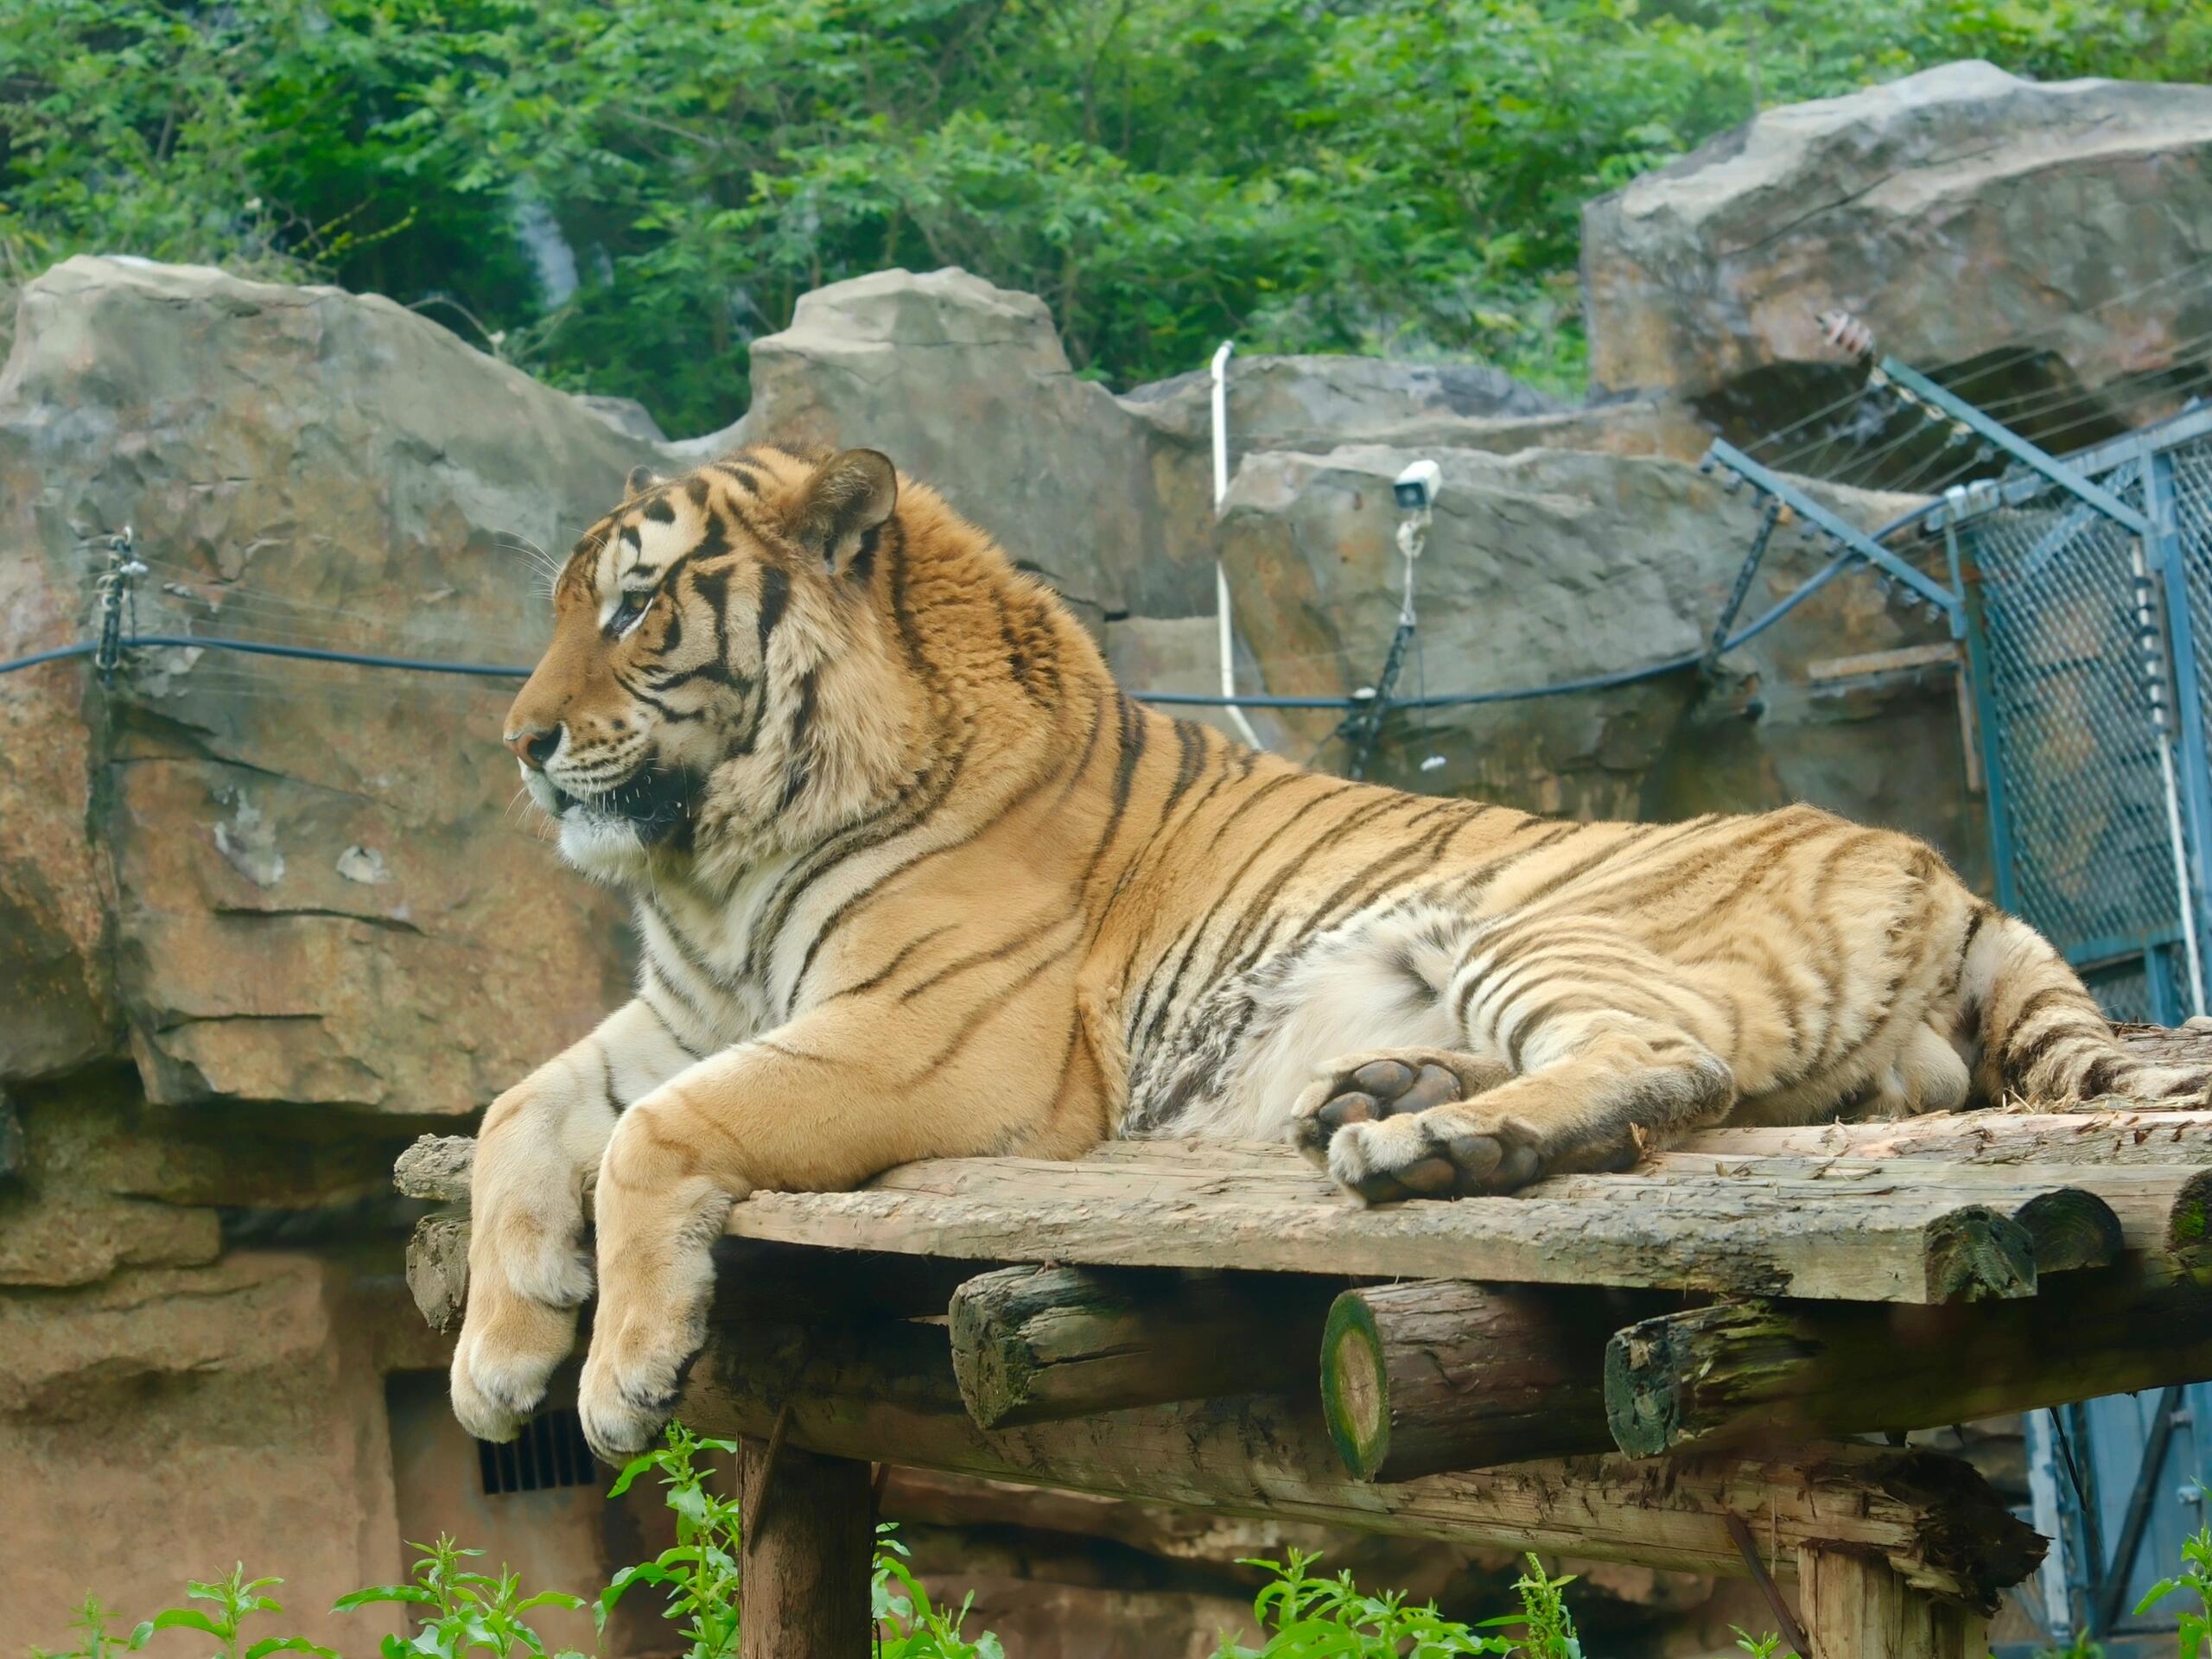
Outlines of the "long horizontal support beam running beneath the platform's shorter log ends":
M 1966 1464 L 1876 1444 L 1666 1462 L 1582 1458 L 1371 1484 L 1345 1475 L 1314 1402 L 1267 1396 L 1117 1411 L 1082 1422 L 978 1429 L 945 1327 L 717 1327 L 679 1402 L 706 1433 L 770 1433 L 825 1455 L 1367 1533 L 1743 1573 L 1741 1515 L 1794 1551 L 1829 1544 L 1889 1562 L 1911 1584 L 1993 1606 L 2044 1542 Z

